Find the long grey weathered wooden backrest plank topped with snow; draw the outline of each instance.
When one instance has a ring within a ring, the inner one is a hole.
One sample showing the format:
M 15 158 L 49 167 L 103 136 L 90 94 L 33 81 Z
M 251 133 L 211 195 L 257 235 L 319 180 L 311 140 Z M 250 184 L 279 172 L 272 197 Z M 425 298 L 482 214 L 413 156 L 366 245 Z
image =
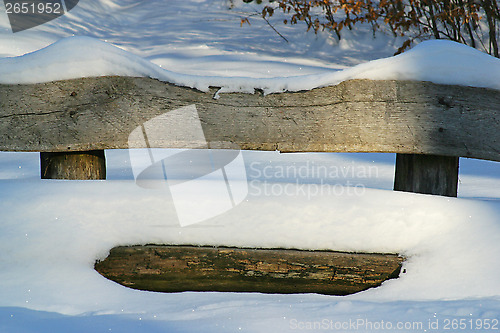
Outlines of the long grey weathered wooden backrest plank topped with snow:
M 395 152 L 500 161 L 500 93 L 413 81 L 353 80 L 263 96 L 148 78 L 0 85 L 0 150 L 128 148 L 147 120 L 194 104 L 205 138 L 242 149 Z M 156 140 L 151 147 L 178 147 Z

